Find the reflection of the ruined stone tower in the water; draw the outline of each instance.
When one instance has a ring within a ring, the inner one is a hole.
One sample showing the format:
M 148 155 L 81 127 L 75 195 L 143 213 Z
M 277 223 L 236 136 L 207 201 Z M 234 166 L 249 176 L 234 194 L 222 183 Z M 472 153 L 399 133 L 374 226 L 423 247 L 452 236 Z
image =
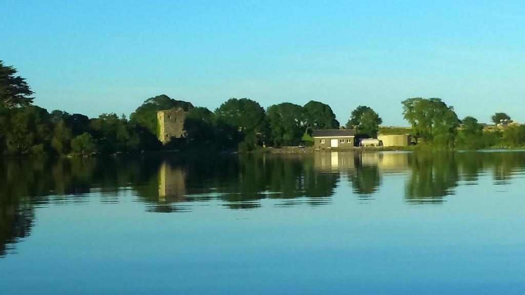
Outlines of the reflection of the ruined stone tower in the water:
M 186 174 L 181 168 L 173 168 L 166 162 L 159 170 L 159 202 L 182 201 L 186 194 Z

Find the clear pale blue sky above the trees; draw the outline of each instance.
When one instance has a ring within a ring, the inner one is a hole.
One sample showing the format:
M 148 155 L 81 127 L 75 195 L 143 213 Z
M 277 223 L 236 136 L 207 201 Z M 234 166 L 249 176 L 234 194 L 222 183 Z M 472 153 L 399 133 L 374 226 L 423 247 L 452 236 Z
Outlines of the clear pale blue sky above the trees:
M 49 110 L 131 113 L 167 94 L 217 108 L 318 100 L 406 125 L 401 101 L 525 121 L 523 1 L 0 0 L 0 60 Z

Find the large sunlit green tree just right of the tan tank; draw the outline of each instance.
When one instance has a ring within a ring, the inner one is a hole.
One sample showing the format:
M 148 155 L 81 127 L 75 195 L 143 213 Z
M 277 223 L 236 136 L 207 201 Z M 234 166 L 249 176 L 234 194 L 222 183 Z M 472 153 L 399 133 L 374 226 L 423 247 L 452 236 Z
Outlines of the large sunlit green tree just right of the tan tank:
M 413 135 L 426 143 L 454 148 L 459 119 L 453 107 L 439 98 L 409 98 L 402 103 L 403 117 L 412 124 Z

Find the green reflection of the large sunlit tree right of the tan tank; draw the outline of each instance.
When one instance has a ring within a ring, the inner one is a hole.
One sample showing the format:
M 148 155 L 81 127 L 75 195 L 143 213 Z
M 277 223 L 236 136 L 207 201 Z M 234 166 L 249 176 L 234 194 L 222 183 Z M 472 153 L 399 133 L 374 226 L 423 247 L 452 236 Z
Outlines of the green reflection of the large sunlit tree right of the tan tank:
M 454 153 L 415 153 L 412 177 L 405 187 L 408 202 L 442 202 L 459 180 Z

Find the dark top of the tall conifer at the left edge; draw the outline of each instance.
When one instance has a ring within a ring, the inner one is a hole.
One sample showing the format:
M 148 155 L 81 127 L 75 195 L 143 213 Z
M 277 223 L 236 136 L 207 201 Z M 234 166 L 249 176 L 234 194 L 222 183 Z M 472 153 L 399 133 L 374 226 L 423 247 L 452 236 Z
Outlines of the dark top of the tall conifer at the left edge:
M 6 108 L 29 106 L 35 99 L 26 79 L 16 73 L 13 66 L 4 66 L 0 60 L 0 104 Z

